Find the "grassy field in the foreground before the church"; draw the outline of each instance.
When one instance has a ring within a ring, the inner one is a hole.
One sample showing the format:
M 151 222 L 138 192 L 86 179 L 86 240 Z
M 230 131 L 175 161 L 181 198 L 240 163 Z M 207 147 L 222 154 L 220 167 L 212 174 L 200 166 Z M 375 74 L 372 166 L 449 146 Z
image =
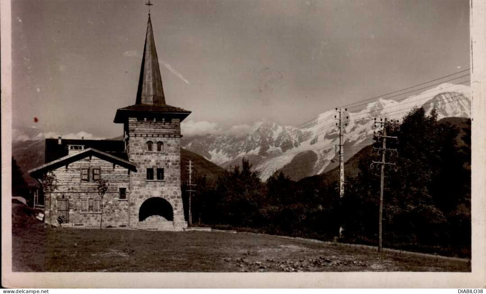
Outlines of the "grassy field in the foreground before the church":
M 468 262 L 231 232 L 50 228 L 13 232 L 16 272 L 469 272 Z

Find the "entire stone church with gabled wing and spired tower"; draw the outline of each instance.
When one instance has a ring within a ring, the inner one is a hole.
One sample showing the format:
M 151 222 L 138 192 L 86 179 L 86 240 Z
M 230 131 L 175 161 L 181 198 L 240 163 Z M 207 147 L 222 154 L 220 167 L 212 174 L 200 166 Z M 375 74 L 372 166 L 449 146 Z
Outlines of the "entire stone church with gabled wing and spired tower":
M 103 215 L 103 226 L 186 228 L 180 123 L 190 113 L 166 104 L 149 14 L 136 101 L 114 119 L 123 124 L 123 140 L 46 139 L 46 163 L 29 171 L 41 183 L 55 175 L 44 222 L 99 226 Z

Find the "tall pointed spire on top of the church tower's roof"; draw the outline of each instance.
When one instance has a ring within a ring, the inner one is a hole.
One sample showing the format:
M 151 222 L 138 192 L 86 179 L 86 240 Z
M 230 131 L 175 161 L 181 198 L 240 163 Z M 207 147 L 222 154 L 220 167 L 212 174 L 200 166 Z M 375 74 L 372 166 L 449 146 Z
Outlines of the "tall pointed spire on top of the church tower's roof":
M 164 89 L 158 67 L 150 14 L 147 23 L 147 34 L 145 35 L 145 46 L 143 47 L 136 104 L 165 105 Z

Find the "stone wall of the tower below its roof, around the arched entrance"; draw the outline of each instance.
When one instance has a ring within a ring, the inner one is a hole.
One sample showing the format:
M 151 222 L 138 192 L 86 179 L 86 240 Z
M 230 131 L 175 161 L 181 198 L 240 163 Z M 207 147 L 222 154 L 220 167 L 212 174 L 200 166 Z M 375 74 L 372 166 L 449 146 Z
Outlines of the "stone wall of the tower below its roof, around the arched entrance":
M 179 119 L 129 118 L 127 123 L 128 157 L 137 164 L 137 173 L 131 173 L 130 223 L 139 222 L 139 209 L 144 201 L 160 197 L 174 209 L 174 228 L 182 230 L 187 223 L 181 196 Z M 152 152 L 147 151 L 148 141 L 154 143 Z M 162 152 L 156 151 L 158 141 L 163 142 Z M 154 180 L 147 180 L 147 168 L 154 169 Z M 164 180 L 156 180 L 157 168 L 164 169 Z

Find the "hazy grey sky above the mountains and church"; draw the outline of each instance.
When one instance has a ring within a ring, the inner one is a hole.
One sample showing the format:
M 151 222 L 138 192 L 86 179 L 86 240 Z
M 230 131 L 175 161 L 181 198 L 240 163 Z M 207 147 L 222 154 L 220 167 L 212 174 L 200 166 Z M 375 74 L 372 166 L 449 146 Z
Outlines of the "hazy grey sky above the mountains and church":
M 298 125 L 469 68 L 469 0 L 152 2 L 166 102 L 198 126 Z M 14 0 L 14 128 L 121 135 L 113 118 L 135 103 L 143 3 Z

